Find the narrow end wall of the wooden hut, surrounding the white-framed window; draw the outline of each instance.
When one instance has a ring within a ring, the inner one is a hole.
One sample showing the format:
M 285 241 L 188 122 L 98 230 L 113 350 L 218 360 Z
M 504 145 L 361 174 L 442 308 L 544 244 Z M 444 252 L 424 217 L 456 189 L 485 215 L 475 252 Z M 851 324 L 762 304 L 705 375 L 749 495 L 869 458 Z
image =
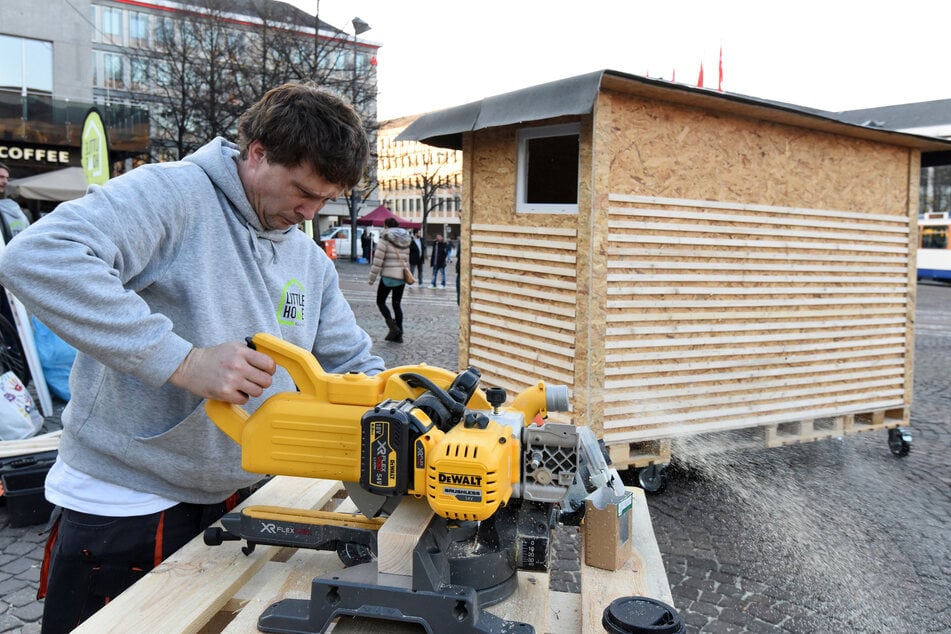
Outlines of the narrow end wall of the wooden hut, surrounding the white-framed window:
M 544 381 L 571 389 L 571 415 L 585 417 L 578 373 L 589 363 L 586 327 L 591 296 L 591 117 L 581 121 L 577 214 L 517 213 L 515 178 L 518 126 L 464 138 L 467 200 L 463 241 L 460 362 L 483 373 L 484 383 L 510 392 Z M 463 252 L 466 252 L 464 248 Z M 600 279 L 600 276 L 598 276 Z M 601 284 L 603 289 L 604 285 Z M 603 290 L 599 302 L 603 305 Z M 598 357 L 603 348 L 593 347 Z

